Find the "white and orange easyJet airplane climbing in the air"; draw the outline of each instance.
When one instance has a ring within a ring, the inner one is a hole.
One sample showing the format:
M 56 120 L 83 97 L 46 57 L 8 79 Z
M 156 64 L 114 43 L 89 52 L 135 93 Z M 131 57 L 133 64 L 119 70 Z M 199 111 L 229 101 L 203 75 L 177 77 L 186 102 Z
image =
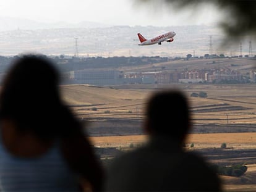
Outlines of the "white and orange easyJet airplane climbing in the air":
M 172 42 L 173 37 L 176 35 L 174 31 L 169 31 L 166 33 L 163 33 L 161 35 L 155 36 L 150 39 L 144 38 L 140 33 L 137 34 L 139 36 L 140 44 L 139 45 L 150 45 L 150 44 L 161 44 L 163 41 Z

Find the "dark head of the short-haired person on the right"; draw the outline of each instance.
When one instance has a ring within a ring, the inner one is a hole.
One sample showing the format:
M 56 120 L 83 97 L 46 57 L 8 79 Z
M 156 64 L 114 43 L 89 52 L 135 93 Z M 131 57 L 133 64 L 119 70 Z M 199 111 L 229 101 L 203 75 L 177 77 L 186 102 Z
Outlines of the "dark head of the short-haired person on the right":
M 179 90 L 160 91 L 148 100 L 147 130 L 151 136 L 183 141 L 189 131 L 189 106 Z

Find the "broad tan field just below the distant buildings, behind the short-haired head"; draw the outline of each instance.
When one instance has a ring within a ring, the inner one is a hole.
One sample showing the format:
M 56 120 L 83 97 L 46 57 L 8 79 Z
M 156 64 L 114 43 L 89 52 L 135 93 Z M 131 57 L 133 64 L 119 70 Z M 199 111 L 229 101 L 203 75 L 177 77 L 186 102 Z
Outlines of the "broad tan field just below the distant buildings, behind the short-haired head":
M 127 87 L 127 86 L 126 86 Z M 78 117 L 143 118 L 148 96 L 154 91 L 179 88 L 189 97 L 194 123 L 221 123 L 247 125 L 256 123 L 255 85 L 153 85 L 141 89 L 64 85 L 64 101 L 72 106 Z M 191 93 L 205 91 L 208 98 L 192 98 Z M 96 109 L 96 110 L 93 110 Z

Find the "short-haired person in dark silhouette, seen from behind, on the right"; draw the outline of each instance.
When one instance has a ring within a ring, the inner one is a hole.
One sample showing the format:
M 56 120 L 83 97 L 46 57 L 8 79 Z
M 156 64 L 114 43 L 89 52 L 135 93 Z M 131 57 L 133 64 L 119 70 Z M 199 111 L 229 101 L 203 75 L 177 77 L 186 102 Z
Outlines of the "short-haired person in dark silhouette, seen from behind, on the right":
M 106 191 L 221 191 L 218 175 L 202 157 L 185 152 L 189 106 L 179 91 L 154 94 L 145 131 L 150 140 L 109 166 Z

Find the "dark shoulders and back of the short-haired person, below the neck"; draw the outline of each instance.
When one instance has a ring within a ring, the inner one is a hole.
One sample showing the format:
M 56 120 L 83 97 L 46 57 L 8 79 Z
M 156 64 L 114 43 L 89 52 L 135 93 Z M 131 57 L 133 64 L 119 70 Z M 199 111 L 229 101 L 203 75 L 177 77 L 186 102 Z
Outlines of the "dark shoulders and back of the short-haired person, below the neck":
M 220 191 L 218 175 L 202 157 L 159 147 L 116 157 L 108 167 L 106 191 Z

